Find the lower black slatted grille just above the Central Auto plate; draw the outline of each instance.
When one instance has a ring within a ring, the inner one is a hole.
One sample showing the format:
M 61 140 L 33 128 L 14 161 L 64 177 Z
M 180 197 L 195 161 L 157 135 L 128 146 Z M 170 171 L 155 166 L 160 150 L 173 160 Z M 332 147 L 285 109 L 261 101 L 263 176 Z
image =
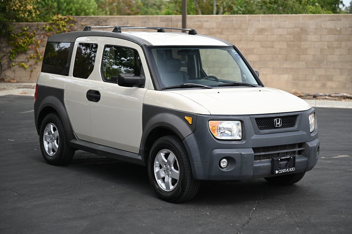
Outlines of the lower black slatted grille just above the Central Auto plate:
M 271 160 L 276 156 L 301 155 L 302 143 L 253 148 L 254 161 Z

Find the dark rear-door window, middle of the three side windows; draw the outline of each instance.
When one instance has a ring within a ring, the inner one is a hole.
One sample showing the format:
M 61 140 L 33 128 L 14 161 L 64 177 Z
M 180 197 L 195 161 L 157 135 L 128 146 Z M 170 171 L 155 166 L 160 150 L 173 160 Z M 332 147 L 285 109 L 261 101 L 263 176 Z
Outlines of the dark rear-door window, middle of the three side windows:
M 80 43 L 77 46 L 73 76 L 87 79 L 94 69 L 98 44 Z

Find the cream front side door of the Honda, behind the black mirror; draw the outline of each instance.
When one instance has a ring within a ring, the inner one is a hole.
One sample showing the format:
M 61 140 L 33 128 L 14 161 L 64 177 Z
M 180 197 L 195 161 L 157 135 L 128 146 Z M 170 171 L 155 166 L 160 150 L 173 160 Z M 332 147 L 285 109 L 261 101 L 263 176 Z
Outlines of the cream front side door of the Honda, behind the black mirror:
M 143 99 L 150 82 L 142 48 L 131 41 L 107 37 L 101 39 L 99 48 L 99 70 L 92 90 L 100 94 L 100 100 L 90 102 L 93 142 L 138 153 Z M 145 86 L 119 86 L 116 78 L 120 73 L 144 75 Z

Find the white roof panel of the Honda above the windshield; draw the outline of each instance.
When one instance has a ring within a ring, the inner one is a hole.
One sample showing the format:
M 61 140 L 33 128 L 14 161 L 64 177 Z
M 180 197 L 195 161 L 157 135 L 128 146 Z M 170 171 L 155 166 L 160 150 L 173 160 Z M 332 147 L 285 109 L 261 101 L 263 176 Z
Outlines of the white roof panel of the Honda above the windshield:
M 149 41 L 153 46 L 228 46 L 226 43 L 201 35 L 185 33 L 122 32 Z

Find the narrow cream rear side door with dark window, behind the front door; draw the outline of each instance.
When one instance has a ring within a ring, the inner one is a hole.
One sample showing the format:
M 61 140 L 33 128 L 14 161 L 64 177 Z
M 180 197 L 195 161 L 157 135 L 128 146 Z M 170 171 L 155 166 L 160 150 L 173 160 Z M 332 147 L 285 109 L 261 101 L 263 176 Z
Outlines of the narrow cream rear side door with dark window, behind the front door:
M 98 44 L 94 37 L 76 39 L 69 76 L 65 83 L 64 102 L 74 132 L 80 140 L 92 140 L 87 92 L 95 79 Z

